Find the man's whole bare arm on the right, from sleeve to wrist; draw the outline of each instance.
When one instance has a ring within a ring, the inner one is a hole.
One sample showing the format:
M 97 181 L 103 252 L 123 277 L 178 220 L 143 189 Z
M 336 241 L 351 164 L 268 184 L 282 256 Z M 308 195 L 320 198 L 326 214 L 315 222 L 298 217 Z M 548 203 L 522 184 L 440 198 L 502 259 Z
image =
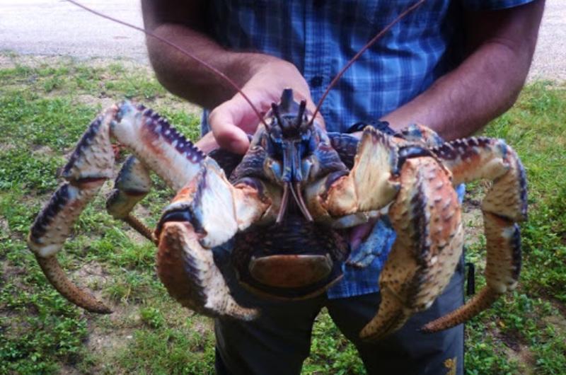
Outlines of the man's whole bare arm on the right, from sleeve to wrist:
M 400 129 L 420 122 L 445 139 L 467 137 L 504 113 L 524 84 L 544 1 L 468 17 L 472 51 L 451 73 L 383 117 Z

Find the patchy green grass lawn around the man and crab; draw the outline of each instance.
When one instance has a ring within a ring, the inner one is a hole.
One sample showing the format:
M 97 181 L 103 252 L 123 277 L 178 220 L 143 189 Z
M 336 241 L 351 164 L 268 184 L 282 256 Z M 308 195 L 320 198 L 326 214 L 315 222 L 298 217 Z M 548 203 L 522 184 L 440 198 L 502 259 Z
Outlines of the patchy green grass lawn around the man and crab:
M 142 101 L 197 137 L 197 108 L 166 93 L 145 67 L 0 54 L 0 374 L 214 373 L 212 322 L 168 296 L 154 246 L 105 213 L 104 194 L 83 212 L 59 260 L 115 313 L 69 304 L 25 244 L 74 144 L 100 110 L 122 98 Z M 466 374 L 566 374 L 566 84 L 531 83 L 483 134 L 505 139 L 521 156 L 530 211 L 519 288 L 466 325 Z M 155 183 L 136 209 L 151 226 L 172 195 Z M 477 207 L 486 187 L 470 185 L 464 205 L 466 256 L 479 285 L 485 238 Z M 327 313 L 317 318 L 303 373 L 364 374 Z

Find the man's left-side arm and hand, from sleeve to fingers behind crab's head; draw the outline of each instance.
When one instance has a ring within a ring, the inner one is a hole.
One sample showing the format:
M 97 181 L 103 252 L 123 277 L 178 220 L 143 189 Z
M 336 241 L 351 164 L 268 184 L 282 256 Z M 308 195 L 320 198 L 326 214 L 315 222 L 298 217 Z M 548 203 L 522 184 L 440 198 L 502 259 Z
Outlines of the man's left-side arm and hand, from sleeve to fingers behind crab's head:
M 292 88 L 295 100 L 306 100 L 314 111 L 308 84 L 290 62 L 267 54 L 226 50 L 204 30 L 206 1 L 142 0 L 144 25 L 154 34 L 166 38 L 197 57 L 205 66 L 186 54 L 148 37 L 149 59 L 157 79 L 168 91 L 202 105 L 214 108 L 209 125 L 216 142 L 224 149 L 243 154 L 249 146 L 246 133 L 258 127 L 261 119 L 240 93 L 210 68 L 229 77 L 250 98 L 255 108 L 267 113 L 271 103 L 278 103 L 284 88 Z M 323 125 L 322 117 L 318 118 Z M 199 142 L 210 149 L 210 139 Z

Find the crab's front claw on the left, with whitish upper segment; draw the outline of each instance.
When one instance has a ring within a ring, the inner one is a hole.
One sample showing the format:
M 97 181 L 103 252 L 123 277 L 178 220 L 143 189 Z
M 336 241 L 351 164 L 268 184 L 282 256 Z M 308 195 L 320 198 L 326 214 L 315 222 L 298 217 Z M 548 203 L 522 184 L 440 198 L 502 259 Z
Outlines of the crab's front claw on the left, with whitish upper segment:
M 251 320 L 258 315 L 234 301 L 210 248 L 258 221 L 270 206 L 264 186 L 248 178 L 233 187 L 210 158 L 180 190 L 156 229 L 157 271 L 180 304 L 207 316 Z

